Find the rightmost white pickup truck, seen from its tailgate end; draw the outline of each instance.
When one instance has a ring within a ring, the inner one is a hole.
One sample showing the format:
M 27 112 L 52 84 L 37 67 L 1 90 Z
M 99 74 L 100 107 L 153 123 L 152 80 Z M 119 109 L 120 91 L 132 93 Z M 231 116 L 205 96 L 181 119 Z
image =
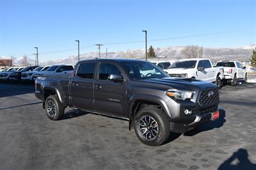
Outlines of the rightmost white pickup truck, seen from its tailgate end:
M 247 72 L 245 66 L 239 61 L 218 61 L 216 66 L 222 66 L 224 69 L 224 80 L 230 82 L 233 86 L 237 84 L 237 81 L 247 82 Z

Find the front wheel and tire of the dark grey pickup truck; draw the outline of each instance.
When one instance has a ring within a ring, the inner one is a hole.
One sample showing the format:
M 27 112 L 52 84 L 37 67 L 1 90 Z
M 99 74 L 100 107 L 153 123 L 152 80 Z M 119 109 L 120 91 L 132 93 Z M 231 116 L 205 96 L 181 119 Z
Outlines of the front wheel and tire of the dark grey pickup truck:
M 169 121 L 164 112 L 156 107 L 149 106 L 141 109 L 138 114 L 135 115 L 134 120 L 135 134 L 143 144 L 159 146 L 163 144 L 170 135 Z

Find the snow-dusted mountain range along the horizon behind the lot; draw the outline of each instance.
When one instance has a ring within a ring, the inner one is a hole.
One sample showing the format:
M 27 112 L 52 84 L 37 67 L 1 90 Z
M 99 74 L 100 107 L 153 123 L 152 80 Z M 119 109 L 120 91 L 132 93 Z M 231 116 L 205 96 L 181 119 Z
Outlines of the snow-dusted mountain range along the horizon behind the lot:
M 227 60 L 238 60 L 238 61 L 248 61 L 252 55 L 252 50 L 255 49 L 256 45 L 246 45 L 243 47 L 234 47 L 234 48 L 210 48 L 204 47 L 204 56 L 205 58 L 210 58 L 213 62 L 220 61 L 223 59 Z M 156 48 L 155 52 L 159 60 L 175 60 L 182 59 L 181 52 L 184 49 L 184 46 L 175 46 L 175 47 L 161 47 Z M 108 58 L 136 58 L 141 59 L 145 57 L 145 49 L 138 50 L 127 50 L 127 51 L 116 51 L 108 52 Z M 81 54 L 80 59 L 93 59 L 99 58 L 98 52 L 90 52 L 87 54 Z M 106 58 L 106 52 L 101 53 L 101 58 Z M 67 63 L 75 65 L 77 63 L 77 56 L 69 56 L 65 59 L 58 59 L 55 61 L 44 62 L 45 65 L 58 64 L 58 63 Z

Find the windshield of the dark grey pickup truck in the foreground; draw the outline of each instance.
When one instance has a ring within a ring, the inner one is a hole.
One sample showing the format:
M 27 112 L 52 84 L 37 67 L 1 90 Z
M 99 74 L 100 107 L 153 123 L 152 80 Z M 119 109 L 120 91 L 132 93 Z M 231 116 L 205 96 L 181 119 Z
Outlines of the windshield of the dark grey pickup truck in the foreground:
M 147 61 L 124 61 L 120 64 L 132 80 L 169 77 L 158 66 Z

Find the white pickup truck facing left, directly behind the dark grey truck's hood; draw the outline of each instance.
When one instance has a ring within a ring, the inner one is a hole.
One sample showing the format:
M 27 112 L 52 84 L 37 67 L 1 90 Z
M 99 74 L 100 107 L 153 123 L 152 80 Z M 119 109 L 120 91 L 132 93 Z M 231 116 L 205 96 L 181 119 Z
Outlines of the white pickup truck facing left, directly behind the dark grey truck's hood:
M 180 59 L 172 63 L 166 70 L 170 77 L 188 77 L 207 82 L 214 82 L 218 88 L 221 87 L 223 79 L 223 67 L 214 67 L 210 59 Z

